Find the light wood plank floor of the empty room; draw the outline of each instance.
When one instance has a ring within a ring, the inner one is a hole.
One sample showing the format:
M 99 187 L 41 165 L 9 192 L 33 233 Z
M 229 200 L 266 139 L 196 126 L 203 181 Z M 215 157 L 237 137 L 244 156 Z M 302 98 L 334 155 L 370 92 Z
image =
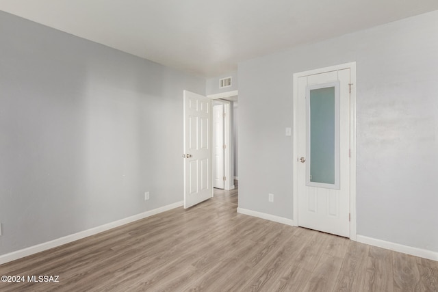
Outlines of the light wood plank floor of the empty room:
M 438 291 L 438 262 L 237 214 L 237 189 L 0 266 L 0 291 Z

